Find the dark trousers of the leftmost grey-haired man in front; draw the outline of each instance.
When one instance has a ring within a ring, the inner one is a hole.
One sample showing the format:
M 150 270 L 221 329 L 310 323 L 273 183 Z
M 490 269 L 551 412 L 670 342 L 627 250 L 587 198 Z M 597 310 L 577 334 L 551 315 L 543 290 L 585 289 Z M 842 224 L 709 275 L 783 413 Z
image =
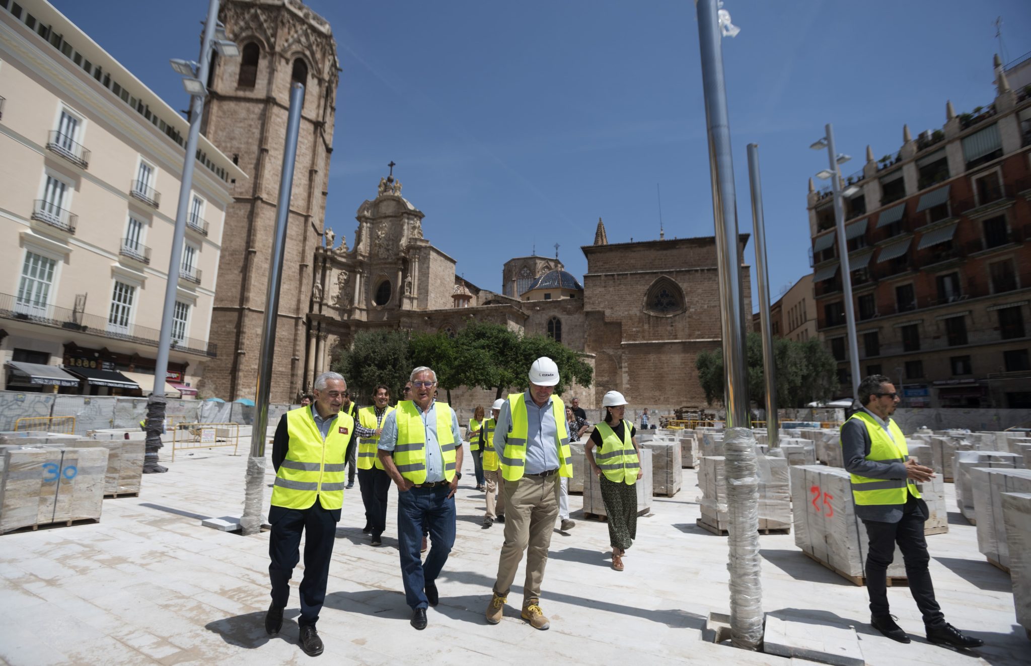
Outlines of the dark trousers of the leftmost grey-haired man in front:
M 329 561 L 336 536 L 336 517 L 315 503 L 306 509 L 273 506 L 269 510 L 272 533 L 268 540 L 268 575 L 272 579 L 272 605 L 284 608 L 290 601 L 290 578 L 300 559 L 304 532 L 304 577 L 301 578 L 301 615 L 297 624 L 314 626 L 326 600 Z

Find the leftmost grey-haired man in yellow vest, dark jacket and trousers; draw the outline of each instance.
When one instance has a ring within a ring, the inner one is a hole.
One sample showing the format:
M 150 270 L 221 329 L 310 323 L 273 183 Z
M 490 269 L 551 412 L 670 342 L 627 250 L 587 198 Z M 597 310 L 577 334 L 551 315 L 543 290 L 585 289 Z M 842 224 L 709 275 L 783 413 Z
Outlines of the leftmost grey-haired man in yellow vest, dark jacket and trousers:
M 355 422 L 340 411 L 347 384 L 336 372 L 315 378 L 315 401 L 291 409 L 279 419 L 272 440 L 272 506 L 268 521 L 272 603 L 265 614 L 265 631 L 275 636 L 282 628 L 282 611 L 290 599 L 290 577 L 304 533 L 304 577 L 301 578 L 301 650 L 314 657 L 323 653 L 315 630 L 326 599 L 329 562 L 336 524 L 343 505 L 343 465 Z

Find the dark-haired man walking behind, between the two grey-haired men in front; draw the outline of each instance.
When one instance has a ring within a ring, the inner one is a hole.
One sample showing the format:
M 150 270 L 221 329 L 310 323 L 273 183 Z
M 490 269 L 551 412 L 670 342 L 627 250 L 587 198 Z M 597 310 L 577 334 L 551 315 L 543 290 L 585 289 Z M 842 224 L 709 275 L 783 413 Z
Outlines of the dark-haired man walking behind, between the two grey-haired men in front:
M 390 493 L 390 474 L 376 456 L 376 444 L 383 432 L 384 419 L 394 407 L 390 406 L 390 387 L 380 384 L 372 393 L 372 406 L 358 410 L 358 421 L 373 434 L 358 439 L 358 487 L 365 505 L 365 529 L 372 535 L 372 545 L 383 545 L 387 529 L 387 501 Z

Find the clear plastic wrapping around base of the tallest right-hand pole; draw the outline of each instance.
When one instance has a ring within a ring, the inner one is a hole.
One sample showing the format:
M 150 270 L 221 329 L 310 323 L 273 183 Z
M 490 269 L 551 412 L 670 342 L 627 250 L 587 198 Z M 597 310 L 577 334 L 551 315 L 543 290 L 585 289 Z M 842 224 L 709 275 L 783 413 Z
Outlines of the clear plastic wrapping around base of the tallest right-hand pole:
M 747 428 L 730 428 L 724 437 L 731 642 L 757 650 L 763 638 L 762 586 L 759 579 L 759 476 L 756 439 Z

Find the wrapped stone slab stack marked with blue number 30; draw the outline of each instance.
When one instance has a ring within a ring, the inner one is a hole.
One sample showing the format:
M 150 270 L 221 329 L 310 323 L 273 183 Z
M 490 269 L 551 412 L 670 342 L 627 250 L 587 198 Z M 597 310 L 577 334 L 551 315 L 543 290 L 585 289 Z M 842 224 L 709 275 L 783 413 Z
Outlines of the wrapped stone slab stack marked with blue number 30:
M 106 448 L 8 447 L 0 476 L 0 534 L 23 527 L 100 520 Z

